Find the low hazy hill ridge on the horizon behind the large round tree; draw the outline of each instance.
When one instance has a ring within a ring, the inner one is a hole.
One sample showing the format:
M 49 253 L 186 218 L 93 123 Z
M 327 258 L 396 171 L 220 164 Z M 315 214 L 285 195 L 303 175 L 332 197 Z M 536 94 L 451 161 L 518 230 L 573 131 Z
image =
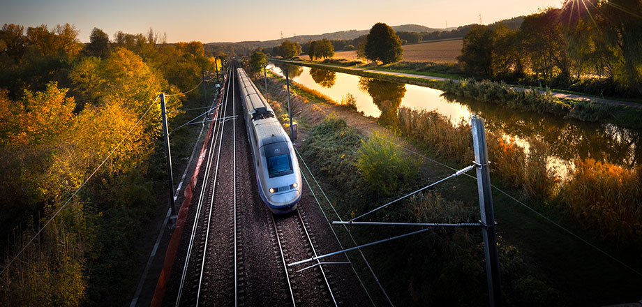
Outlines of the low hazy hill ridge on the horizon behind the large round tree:
M 443 29 L 428 28 L 428 27 L 421 26 L 419 24 L 402 24 L 401 26 L 393 26 L 392 29 L 396 32 L 428 32 L 428 33 L 443 30 Z M 253 49 L 256 47 L 271 48 L 274 46 L 281 45 L 281 43 L 283 43 L 283 40 L 290 40 L 292 42 L 297 42 L 299 44 L 308 43 L 310 40 L 322 40 L 323 38 L 326 38 L 328 40 L 351 40 L 353 38 L 358 38 L 359 36 L 366 35 L 368 34 L 369 31 L 370 29 L 348 30 L 348 31 L 315 34 L 315 35 L 297 35 L 297 36 L 282 38 L 278 40 L 264 40 L 264 41 L 253 40 L 253 41 L 244 41 L 244 42 L 238 42 L 238 43 L 208 43 L 207 45 L 238 44 L 238 45 L 245 45 L 250 49 Z

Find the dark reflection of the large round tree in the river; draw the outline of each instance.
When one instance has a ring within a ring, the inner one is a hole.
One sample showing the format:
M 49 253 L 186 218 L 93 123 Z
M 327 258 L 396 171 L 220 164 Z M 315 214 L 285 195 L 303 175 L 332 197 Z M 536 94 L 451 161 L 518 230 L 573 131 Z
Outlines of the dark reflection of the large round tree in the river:
M 359 77 L 359 89 L 370 94 L 373 103 L 381 110 L 378 123 L 387 126 L 396 121 L 397 109 L 405 96 L 405 84 Z

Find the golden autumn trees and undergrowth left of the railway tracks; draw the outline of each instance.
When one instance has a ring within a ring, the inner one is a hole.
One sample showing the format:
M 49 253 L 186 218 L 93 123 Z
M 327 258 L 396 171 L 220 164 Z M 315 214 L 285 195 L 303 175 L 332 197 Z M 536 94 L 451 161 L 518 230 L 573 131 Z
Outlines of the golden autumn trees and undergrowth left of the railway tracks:
M 70 24 L 0 29 L 1 268 L 113 151 L 3 274 L 2 306 L 128 299 L 119 293 L 135 278 L 142 223 L 166 204 L 156 192 L 165 174 L 160 107 L 152 103 L 161 92 L 176 94 L 167 108 L 178 110 L 188 98 L 179 93 L 214 69 L 202 43 L 170 45 L 151 29 L 110 40 L 95 28 L 87 44 L 77 35 Z

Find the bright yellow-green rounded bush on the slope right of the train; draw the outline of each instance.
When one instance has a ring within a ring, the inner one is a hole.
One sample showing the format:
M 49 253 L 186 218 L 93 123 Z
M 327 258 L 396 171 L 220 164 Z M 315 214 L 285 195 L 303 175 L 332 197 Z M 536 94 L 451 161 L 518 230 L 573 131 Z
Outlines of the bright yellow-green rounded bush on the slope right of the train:
M 376 131 L 359 149 L 359 174 L 378 195 L 389 196 L 411 186 L 419 174 L 421 160 L 408 156 L 394 145 L 393 135 Z

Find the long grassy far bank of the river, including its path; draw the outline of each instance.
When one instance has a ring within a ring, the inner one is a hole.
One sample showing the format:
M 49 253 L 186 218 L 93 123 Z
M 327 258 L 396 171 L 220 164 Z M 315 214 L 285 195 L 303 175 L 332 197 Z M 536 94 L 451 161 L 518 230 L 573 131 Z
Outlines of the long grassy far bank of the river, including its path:
M 514 110 L 553 114 L 558 117 L 581 121 L 615 123 L 627 128 L 642 128 L 642 104 L 621 100 L 608 100 L 571 93 L 544 91 L 541 89 L 512 87 L 501 82 L 456 80 L 449 77 L 415 75 L 393 71 L 354 68 L 306 61 L 276 62 L 307 66 L 325 70 L 388 80 L 421 87 L 440 89 L 449 94 L 463 96 L 509 107 Z

